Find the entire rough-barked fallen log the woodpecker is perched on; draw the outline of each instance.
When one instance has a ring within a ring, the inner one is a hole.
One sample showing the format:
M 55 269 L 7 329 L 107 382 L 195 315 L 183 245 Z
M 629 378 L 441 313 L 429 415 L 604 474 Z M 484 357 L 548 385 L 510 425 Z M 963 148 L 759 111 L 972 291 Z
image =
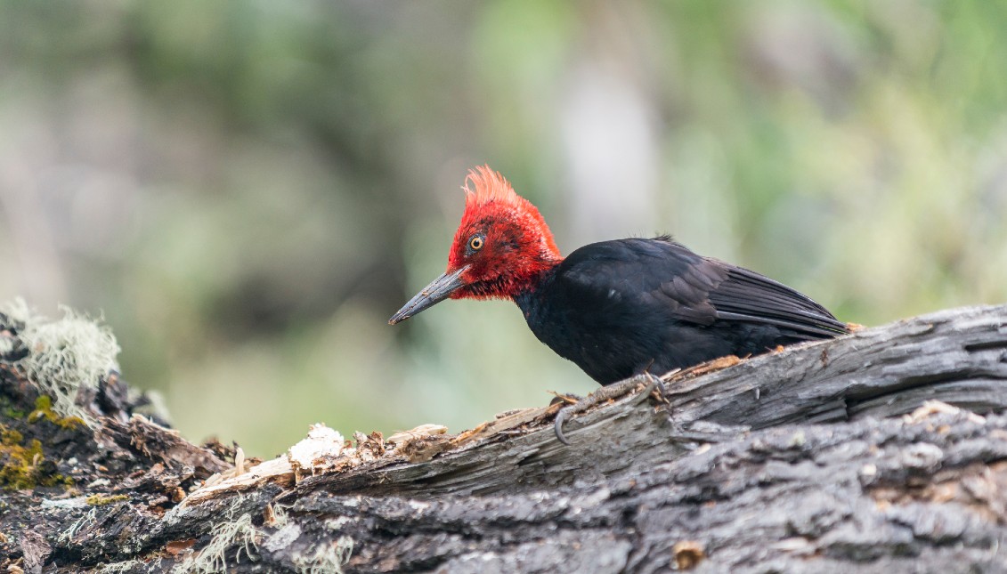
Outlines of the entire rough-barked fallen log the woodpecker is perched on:
M 36 414 L 18 361 L 13 571 L 1007 570 L 1007 306 L 630 381 L 569 446 L 552 406 L 345 449 L 316 429 L 257 466 L 133 414 L 114 376 L 84 393 L 90 426 Z

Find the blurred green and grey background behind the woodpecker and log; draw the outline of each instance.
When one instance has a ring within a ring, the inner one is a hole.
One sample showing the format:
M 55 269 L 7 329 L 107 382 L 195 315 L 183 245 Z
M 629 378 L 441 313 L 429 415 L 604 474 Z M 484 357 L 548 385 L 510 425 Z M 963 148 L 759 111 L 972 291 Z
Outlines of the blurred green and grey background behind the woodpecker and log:
M 594 384 L 509 302 L 388 317 L 489 163 L 564 253 L 671 232 L 841 318 L 1007 300 L 1007 3 L 0 3 L 0 299 L 104 312 L 272 456 Z

